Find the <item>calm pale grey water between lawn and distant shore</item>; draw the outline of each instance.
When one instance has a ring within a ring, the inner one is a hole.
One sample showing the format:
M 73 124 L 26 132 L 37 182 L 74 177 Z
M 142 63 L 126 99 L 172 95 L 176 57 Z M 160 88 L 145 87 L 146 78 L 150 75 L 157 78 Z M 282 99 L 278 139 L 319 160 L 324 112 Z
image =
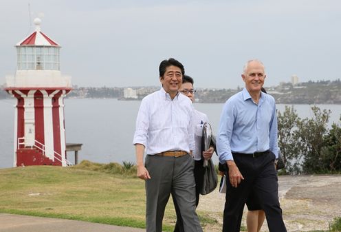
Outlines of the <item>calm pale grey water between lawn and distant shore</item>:
M 0 100 L 0 168 L 13 166 L 14 153 L 14 99 Z M 217 133 L 223 103 L 195 103 L 195 108 L 208 115 L 213 133 Z M 290 105 L 289 105 L 290 106 Z M 313 105 L 294 105 L 300 118 L 311 118 Z M 338 123 L 341 105 L 317 105 L 330 109 L 331 123 Z M 82 143 L 78 162 L 109 163 L 135 162 L 135 147 L 132 144 L 135 119 L 140 101 L 118 101 L 115 98 L 65 99 L 65 135 L 67 143 Z M 283 112 L 285 105 L 276 105 Z M 74 163 L 74 152 L 67 152 L 67 159 Z M 213 161 L 218 162 L 214 155 Z

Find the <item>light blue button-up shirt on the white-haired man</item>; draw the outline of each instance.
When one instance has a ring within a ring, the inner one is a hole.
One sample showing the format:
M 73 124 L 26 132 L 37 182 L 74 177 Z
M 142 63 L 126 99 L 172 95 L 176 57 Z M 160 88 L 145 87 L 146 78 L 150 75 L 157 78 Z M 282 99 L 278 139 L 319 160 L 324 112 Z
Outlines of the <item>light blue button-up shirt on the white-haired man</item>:
M 274 98 L 261 92 L 256 104 L 244 88 L 223 106 L 217 135 L 219 161 L 233 160 L 232 152 L 252 154 L 268 149 L 278 158 Z

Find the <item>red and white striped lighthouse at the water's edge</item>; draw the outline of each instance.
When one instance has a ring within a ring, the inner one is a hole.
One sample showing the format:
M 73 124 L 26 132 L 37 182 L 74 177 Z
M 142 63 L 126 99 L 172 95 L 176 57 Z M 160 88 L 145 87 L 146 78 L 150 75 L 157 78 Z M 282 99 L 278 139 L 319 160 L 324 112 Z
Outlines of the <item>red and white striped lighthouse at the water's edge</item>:
M 40 29 L 17 43 L 17 71 L 6 76 L 5 90 L 17 98 L 14 114 L 14 167 L 67 166 L 64 97 L 72 89 L 71 76 L 62 76 L 61 46 Z

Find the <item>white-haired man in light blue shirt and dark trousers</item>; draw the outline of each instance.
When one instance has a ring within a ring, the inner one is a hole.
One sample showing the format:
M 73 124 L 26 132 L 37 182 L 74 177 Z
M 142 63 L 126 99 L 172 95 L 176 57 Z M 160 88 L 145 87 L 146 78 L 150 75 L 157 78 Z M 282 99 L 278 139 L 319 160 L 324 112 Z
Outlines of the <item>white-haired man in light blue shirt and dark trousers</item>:
M 219 161 L 228 170 L 223 232 L 240 231 L 244 204 L 251 191 L 265 211 L 270 232 L 285 232 L 275 168 L 275 101 L 261 92 L 266 78 L 261 61 L 248 61 L 241 76 L 245 88 L 226 101 L 217 135 Z

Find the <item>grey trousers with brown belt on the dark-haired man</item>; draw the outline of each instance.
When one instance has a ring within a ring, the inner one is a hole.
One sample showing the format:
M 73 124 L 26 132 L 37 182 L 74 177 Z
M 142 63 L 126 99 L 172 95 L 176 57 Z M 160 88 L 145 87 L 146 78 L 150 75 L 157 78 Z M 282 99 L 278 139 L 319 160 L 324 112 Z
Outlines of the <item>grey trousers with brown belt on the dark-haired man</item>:
M 191 156 L 146 156 L 151 175 L 146 180 L 146 232 L 162 232 L 164 209 L 170 193 L 179 205 L 186 232 L 202 232 L 195 212 L 194 160 Z

